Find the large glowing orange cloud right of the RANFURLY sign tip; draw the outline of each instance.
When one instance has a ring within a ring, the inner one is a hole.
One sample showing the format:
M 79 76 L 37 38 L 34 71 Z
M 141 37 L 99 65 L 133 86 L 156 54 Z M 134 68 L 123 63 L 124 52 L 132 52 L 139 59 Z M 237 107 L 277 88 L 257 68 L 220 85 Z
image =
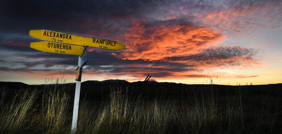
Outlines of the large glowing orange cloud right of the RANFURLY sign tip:
M 223 41 L 223 36 L 206 27 L 184 25 L 151 26 L 134 22 L 129 33 L 127 50 L 119 58 L 128 60 L 163 60 L 165 57 L 197 53 Z

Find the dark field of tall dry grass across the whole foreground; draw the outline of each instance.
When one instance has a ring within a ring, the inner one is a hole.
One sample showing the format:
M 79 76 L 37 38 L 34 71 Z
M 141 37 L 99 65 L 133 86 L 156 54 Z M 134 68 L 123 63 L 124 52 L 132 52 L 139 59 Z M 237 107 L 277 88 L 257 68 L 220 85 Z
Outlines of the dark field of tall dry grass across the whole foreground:
M 281 84 L 108 86 L 82 89 L 76 133 L 282 132 Z M 73 92 L 67 84 L 1 87 L 0 133 L 69 134 Z

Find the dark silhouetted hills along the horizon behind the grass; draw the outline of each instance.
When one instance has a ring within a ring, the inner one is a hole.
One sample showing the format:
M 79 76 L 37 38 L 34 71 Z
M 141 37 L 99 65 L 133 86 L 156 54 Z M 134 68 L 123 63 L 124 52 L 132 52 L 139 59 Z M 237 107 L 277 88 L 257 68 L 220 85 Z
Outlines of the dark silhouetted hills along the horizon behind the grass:
M 43 84 L 43 85 L 28 85 L 21 82 L 0 82 L 0 88 L 5 87 L 6 95 L 12 95 L 15 91 L 21 88 L 31 88 L 31 89 L 43 89 L 43 88 L 57 88 L 65 87 L 69 90 L 70 96 L 73 97 L 76 83 L 66 83 L 66 84 Z M 228 92 L 236 93 L 238 89 L 246 91 L 248 95 L 259 95 L 268 94 L 272 96 L 281 95 L 279 92 L 282 90 L 282 84 L 269 84 L 269 85 L 242 85 L 242 86 L 232 86 L 232 85 L 204 85 L 204 84 L 182 84 L 173 82 L 156 82 L 156 81 L 136 81 L 128 82 L 119 79 L 109 79 L 104 81 L 84 81 L 81 83 L 81 94 L 80 96 L 86 96 L 86 98 L 99 100 L 102 97 L 107 97 L 110 87 L 117 89 L 119 87 L 123 91 L 128 89 L 132 95 L 165 95 L 167 97 L 179 97 L 189 93 L 191 89 L 202 90 L 202 89 L 216 89 L 215 91 L 220 94 L 226 94 Z

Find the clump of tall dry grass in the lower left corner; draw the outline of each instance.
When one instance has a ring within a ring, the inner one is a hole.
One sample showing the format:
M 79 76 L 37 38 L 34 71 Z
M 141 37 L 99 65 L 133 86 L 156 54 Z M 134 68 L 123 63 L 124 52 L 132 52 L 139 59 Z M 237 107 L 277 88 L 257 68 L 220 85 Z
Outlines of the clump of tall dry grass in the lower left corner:
M 30 128 L 26 126 L 28 119 L 34 113 L 32 106 L 38 97 L 38 90 L 20 89 L 18 93 L 5 104 L 4 90 L 1 91 L 0 133 L 18 133 Z

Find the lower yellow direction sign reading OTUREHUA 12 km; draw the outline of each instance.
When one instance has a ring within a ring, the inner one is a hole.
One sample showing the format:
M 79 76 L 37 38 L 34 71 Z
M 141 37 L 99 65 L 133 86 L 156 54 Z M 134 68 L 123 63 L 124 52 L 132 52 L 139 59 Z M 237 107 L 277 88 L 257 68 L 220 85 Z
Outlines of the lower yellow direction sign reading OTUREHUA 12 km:
M 31 42 L 30 47 L 42 52 L 61 53 L 78 56 L 81 56 L 84 51 L 84 47 L 82 46 L 47 41 Z

